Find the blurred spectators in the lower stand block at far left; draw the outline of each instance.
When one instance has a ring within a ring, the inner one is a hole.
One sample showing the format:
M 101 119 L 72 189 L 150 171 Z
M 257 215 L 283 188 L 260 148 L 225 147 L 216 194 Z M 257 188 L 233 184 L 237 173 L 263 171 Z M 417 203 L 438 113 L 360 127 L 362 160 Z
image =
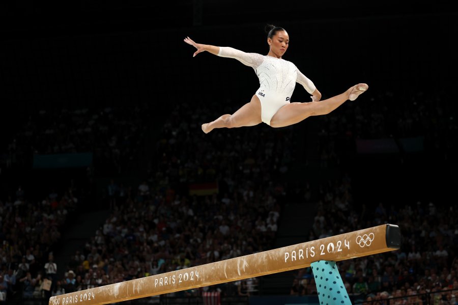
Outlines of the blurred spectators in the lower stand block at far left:
M 54 249 L 77 206 L 78 189 L 72 183 L 50 189 L 44 198 L 20 186 L 14 196 L 0 200 L 0 301 L 16 294 L 44 296 L 44 282 L 58 271 Z

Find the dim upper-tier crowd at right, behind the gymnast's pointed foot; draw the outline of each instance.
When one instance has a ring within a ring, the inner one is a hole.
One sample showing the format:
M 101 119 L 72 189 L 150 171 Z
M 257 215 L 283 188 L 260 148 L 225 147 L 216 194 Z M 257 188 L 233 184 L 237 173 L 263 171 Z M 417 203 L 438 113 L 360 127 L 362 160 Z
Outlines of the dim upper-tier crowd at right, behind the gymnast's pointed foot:
M 426 153 L 447 160 L 458 153 L 458 106 L 448 91 L 398 88 L 367 94 L 366 100 L 347 102 L 321 119 L 317 144 L 324 160 L 338 160 L 356 139 L 421 137 Z

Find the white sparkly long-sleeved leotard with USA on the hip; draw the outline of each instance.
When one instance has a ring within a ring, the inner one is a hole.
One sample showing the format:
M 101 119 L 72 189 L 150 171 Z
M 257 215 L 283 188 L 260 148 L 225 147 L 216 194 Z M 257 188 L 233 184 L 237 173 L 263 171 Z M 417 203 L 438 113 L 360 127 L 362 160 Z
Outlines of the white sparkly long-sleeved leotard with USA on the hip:
M 267 125 L 278 109 L 290 103 L 296 82 L 310 94 L 316 89 L 292 62 L 231 47 L 219 47 L 218 56 L 234 58 L 254 69 L 260 84 L 255 94 L 261 101 L 261 119 Z

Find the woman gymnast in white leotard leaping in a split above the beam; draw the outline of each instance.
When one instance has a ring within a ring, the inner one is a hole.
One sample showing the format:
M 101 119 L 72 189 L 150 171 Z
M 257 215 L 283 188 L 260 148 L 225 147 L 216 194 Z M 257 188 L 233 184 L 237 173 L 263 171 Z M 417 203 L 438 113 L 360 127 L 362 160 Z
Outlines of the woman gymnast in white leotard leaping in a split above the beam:
M 195 43 L 189 37 L 184 41 L 197 50 L 193 56 L 208 51 L 220 57 L 234 58 L 246 66 L 252 67 L 259 77 L 260 88 L 256 90 L 249 103 L 243 105 L 234 114 L 226 114 L 213 122 L 202 124 L 205 133 L 215 128 L 234 128 L 254 126 L 264 122 L 272 127 L 284 127 L 296 124 L 310 116 L 329 114 L 347 100 L 355 100 L 369 87 L 358 84 L 346 92 L 320 101 L 321 93 L 313 82 L 302 74 L 291 62 L 281 57 L 288 49 L 290 37 L 278 26 L 266 27 L 267 43 L 270 46 L 266 56 L 257 53 L 245 53 L 231 47 L 218 47 Z M 311 102 L 291 102 L 296 82 L 311 94 Z

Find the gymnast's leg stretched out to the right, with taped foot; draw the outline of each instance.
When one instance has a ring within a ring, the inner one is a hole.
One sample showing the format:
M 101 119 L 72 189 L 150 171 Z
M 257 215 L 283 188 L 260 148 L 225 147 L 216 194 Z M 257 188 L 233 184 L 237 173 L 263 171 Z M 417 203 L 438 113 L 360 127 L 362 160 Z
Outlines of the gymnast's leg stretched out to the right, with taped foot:
M 361 93 L 369 87 L 366 84 L 358 84 L 351 87 L 346 92 L 322 100 L 319 102 L 290 103 L 284 105 L 275 113 L 270 120 L 272 127 L 284 127 L 299 123 L 310 116 L 327 115 L 332 110 L 343 104 L 347 100 L 355 100 Z

